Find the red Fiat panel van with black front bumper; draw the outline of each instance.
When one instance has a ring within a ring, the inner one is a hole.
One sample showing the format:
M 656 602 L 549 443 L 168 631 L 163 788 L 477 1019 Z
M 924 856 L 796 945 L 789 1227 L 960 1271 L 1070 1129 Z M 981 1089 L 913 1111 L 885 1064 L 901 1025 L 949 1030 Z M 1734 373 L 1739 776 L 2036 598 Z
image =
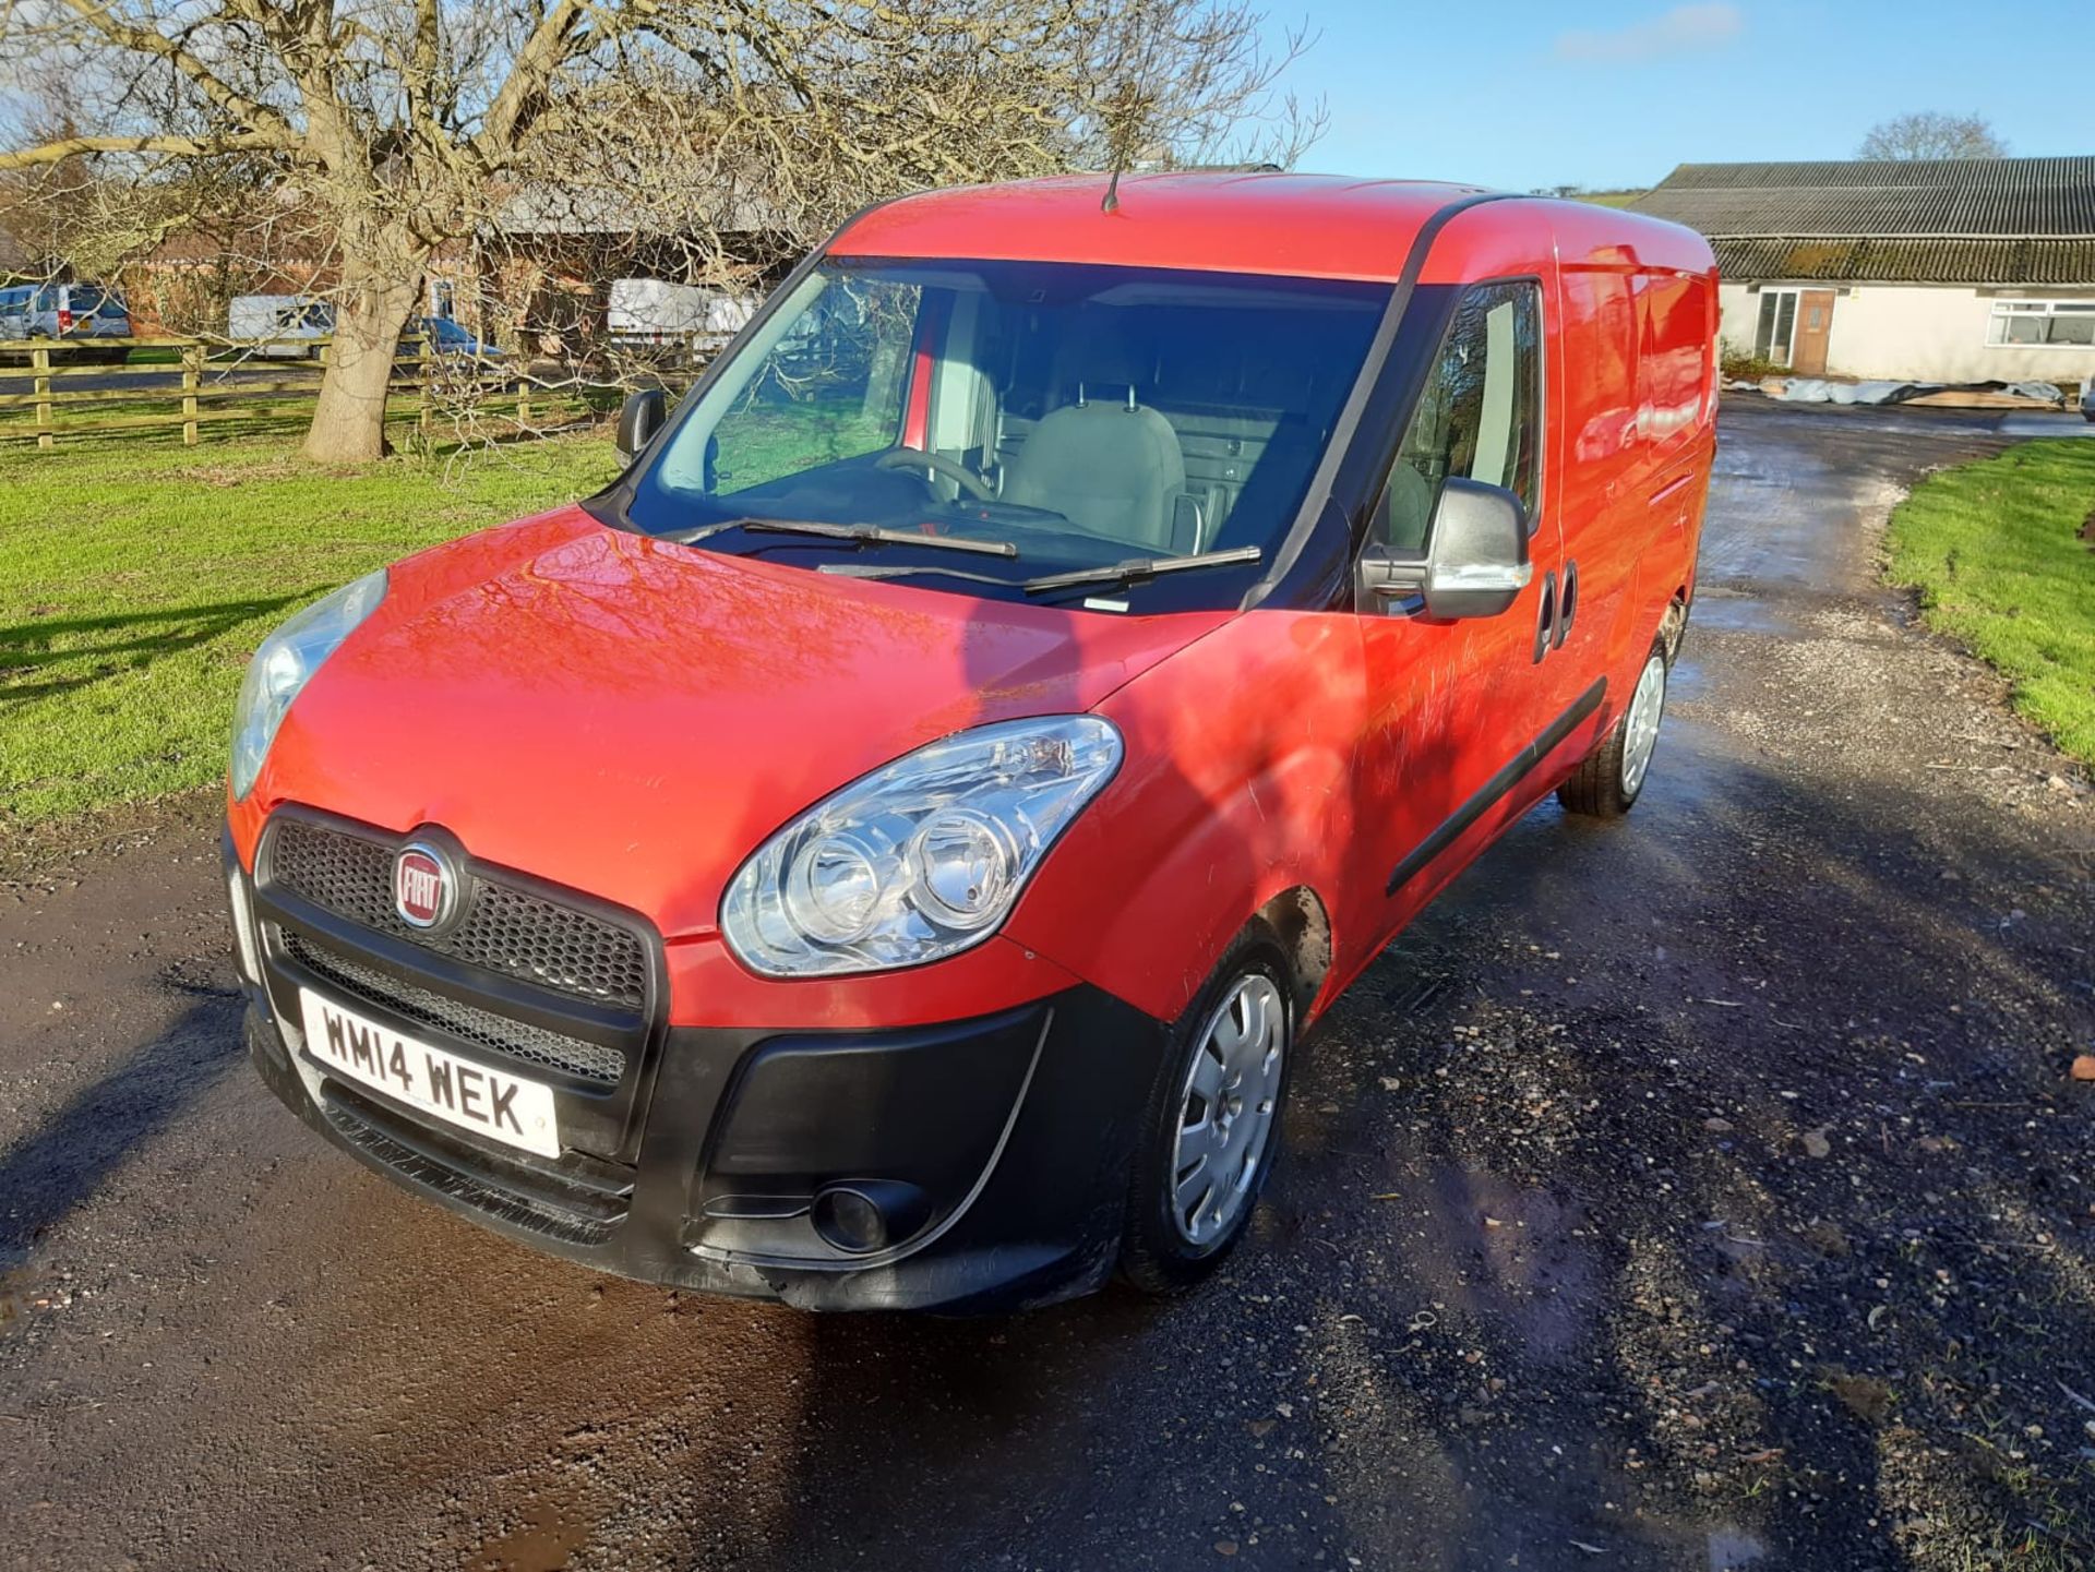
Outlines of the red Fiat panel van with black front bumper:
M 1303 1032 L 1540 798 L 1645 787 L 1695 590 L 1684 228 L 1288 174 L 941 190 L 603 494 L 239 699 L 247 1042 L 490 1229 L 811 1308 L 1167 1292 Z

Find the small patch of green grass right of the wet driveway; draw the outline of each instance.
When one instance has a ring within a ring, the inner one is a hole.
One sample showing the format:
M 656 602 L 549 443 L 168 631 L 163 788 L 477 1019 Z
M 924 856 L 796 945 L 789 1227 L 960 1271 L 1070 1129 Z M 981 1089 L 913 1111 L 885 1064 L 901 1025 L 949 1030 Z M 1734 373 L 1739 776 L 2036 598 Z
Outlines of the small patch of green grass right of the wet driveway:
M 2095 764 L 2095 442 L 2028 442 L 1932 475 L 1892 515 L 1892 580 L 2015 684 L 2015 708 Z

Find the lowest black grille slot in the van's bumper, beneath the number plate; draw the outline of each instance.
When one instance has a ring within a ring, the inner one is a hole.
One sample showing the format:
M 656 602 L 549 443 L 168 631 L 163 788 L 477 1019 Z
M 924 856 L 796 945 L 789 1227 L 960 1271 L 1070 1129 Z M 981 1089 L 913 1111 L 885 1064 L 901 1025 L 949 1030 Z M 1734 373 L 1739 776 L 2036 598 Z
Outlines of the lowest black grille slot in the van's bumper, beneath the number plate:
M 400 1176 L 549 1239 L 608 1243 L 631 1206 L 631 1185 L 570 1183 L 524 1168 L 497 1172 L 488 1158 L 425 1126 L 409 1126 L 339 1082 L 327 1084 L 321 1111 L 352 1147 Z

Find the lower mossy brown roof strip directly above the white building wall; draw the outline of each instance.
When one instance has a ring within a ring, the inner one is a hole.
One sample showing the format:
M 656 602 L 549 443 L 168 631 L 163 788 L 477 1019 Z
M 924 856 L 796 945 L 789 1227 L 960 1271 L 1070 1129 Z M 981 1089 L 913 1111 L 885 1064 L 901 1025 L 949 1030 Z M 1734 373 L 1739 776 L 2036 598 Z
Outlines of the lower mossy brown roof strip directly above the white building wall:
M 1957 241 L 1890 237 L 1741 237 L 1710 241 L 1724 278 L 1842 285 L 2080 285 L 2095 287 L 2095 239 Z

